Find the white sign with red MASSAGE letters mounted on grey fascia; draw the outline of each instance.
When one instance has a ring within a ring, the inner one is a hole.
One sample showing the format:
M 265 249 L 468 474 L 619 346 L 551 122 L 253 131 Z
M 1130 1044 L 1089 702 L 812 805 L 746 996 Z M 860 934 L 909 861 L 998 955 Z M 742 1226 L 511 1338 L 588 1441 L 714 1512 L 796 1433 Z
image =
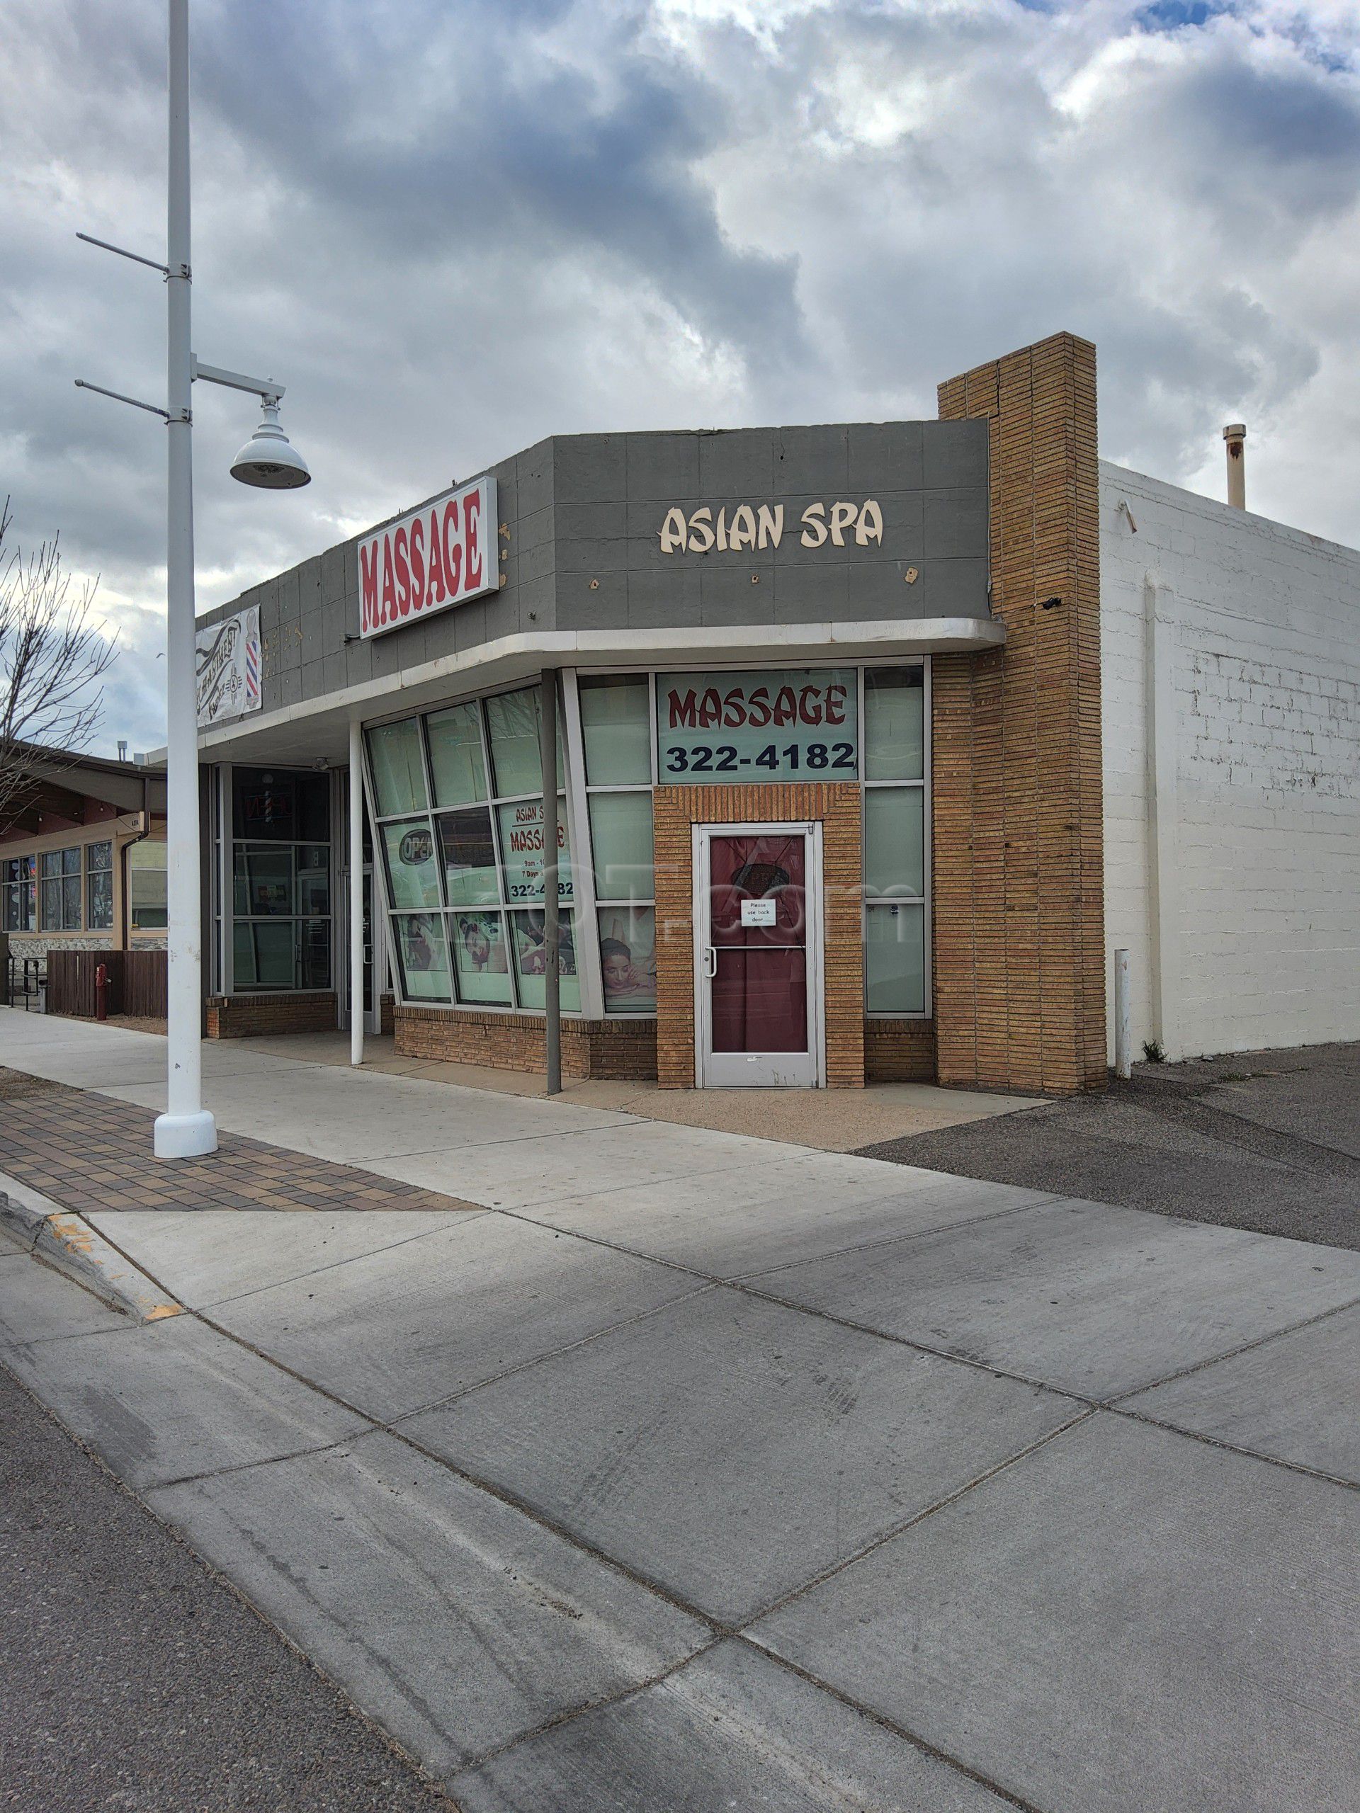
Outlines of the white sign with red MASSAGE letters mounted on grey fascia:
M 446 491 L 359 542 L 359 635 L 383 636 L 500 584 L 495 479 Z

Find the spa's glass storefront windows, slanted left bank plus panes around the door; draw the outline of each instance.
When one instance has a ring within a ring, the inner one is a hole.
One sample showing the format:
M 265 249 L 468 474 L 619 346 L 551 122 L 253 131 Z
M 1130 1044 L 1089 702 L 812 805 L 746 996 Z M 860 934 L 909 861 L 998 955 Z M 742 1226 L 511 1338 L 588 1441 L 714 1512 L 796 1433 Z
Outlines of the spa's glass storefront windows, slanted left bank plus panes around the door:
M 568 1012 L 582 1010 L 580 939 L 591 941 L 584 966 L 602 986 L 591 1012 L 656 1012 L 653 774 L 858 783 L 865 912 L 883 914 L 865 930 L 865 1008 L 928 1010 L 928 662 L 658 674 L 655 709 L 642 673 L 582 674 L 566 696 L 580 705 L 580 742 L 564 734 L 564 707 L 559 756 L 568 742 L 584 756 L 559 796 Z M 542 1008 L 539 731 L 539 687 L 520 685 L 368 732 L 406 1001 Z M 588 836 L 580 858 L 595 923 L 573 908 L 568 805 L 582 814 L 571 819 L 577 836 Z

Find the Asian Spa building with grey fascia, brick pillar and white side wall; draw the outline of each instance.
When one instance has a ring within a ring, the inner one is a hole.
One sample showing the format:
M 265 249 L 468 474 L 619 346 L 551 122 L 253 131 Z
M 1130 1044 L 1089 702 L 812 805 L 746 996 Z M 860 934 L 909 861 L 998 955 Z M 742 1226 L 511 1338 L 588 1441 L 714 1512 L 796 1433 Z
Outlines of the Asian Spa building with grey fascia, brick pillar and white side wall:
M 569 1077 L 1101 1088 L 1117 948 L 1135 1055 L 1360 1037 L 1360 555 L 1095 392 L 553 437 L 212 613 L 209 1032 L 348 1024 L 357 861 L 364 1024 L 542 1068 L 548 674 Z

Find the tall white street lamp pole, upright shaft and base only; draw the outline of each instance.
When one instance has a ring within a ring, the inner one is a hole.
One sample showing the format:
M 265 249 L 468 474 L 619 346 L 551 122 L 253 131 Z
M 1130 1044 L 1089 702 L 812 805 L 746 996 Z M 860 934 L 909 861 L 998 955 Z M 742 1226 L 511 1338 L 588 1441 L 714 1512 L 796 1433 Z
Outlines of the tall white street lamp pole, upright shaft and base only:
M 218 1149 L 203 1108 L 203 923 L 199 912 L 198 702 L 194 676 L 194 464 L 189 306 L 189 0 L 170 11 L 170 156 L 167 265 L 167 537 L 165 537 L 165 868 L 169 917 L 169 1091 L 158 1159 Z M 223 912 L 228 903 L 223 901 Z

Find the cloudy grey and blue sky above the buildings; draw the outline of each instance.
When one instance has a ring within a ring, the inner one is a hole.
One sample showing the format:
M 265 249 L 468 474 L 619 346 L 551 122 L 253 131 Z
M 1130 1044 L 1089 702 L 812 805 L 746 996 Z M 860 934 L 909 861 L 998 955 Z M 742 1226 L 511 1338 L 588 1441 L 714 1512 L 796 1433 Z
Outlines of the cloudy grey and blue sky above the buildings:
M 0 0 L 0 495 L 161 740 L 163 0 Z M 198 602 L 546 433 L 934 415 L 1072 328 L 1101 446 L 1360 544 L 1355 0 L 192 0 Z

